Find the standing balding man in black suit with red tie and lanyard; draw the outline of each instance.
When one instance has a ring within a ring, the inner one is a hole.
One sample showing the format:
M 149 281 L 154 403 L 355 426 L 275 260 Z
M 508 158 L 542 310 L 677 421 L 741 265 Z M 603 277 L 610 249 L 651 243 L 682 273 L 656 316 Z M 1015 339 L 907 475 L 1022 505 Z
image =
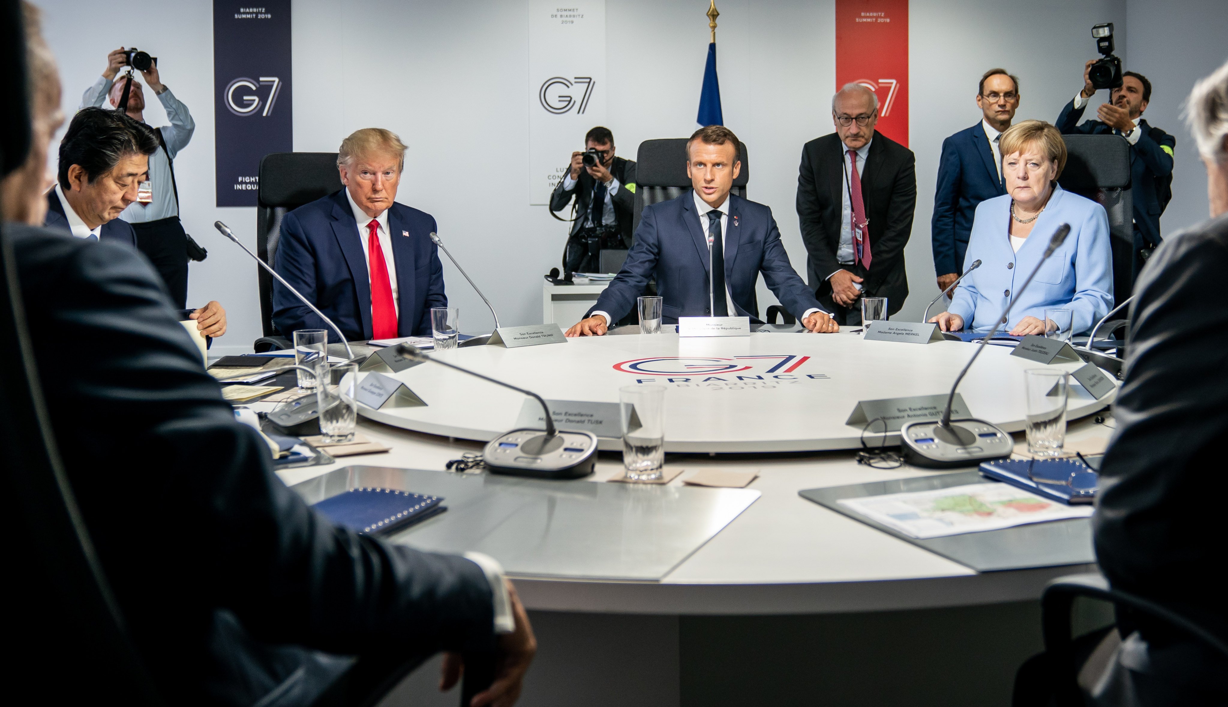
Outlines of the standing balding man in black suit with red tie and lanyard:
M 840 324 L 861 323 L 860 298 L 904 307 L 904 247 L 917 200 L 912 151 L 874 130 L 878 96 L 849 83 L 831 99 L 836 131 L 802 149 L 797 217 L 810 286 Z M 856 166 L 856 169 L 851 169 Z

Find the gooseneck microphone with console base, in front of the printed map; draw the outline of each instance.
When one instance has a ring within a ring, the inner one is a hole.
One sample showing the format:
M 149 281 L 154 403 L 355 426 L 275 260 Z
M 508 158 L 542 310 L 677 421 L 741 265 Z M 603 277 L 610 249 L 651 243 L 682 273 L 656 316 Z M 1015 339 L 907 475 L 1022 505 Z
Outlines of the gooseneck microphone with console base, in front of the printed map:
M 900 428 L 900 448 L 904 452 L 905 462 L 915 466 L 948 469 L 952 466 L 970 466 L 986 459 L 1000 459 L 1011 454 L 1014 441 L 1005 430 L 992 422 L 975 419 L 957 420 L 955 422 L 964 422 L 964 425 L 953 425 L 950 406 L 955 400 L 955 390 L 959 388 L 960 381 L 964 379 L 964 374 L 971 368 L 976 357 L 981 355 L 981 351 L 985 351 L 985 345 L 993 339 L 993 335 L 998 333 L 998 329 L 1009 318 L 1011 309 L 1014 308 L 1014 304 L 1023 296 L 1024 291 L 1032 285 L 1032 280 L 1040 271 L 1040 266 L 1049 260 L 1054 250 L 1061 247 L 1070 232 L 1070 223 L 1062 223 L 1054 232 L 1049 239 L 1049 247 L 1045 248 L 1045 254 L 1040 257 L 1040 261 L 1033 268 L 1023 287 L 1016 291 L 1006 311 L 993 323 L 993 329 L 981 339 L 981 344 L 973 354 L 973 357 L 968 360 L 964 369 L 955 377 L 955 384 L 950 387 L 950 394 L 947 396 L 947 406 L 943 409 L 938 422 L 909 422 Z

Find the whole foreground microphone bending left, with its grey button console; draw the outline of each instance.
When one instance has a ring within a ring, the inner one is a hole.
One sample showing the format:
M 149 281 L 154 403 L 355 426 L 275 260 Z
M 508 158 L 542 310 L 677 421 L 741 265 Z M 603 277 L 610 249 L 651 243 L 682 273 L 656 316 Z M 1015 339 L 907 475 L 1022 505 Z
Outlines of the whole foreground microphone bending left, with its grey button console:
M 456 363 L 432 358 L 410 344 L 399 344 L 397 354 L 413 361 L 430 361 L 453 371 L 468 373 L 488 383 L 511 388 L 538 401 L 545 420 L 545 435 L 542 435 L 540 430 L 519 428 L 491 439 L 483 450 L 483 459 L 495 474 L 538 479 L 578 479 L 593 473 L 593 466 L 597 464 L 597 437 L 592 432 L 560 432 L 554 426 L 550 406 L 537 393 L 496 381 L 476 371 L 462 368 Z

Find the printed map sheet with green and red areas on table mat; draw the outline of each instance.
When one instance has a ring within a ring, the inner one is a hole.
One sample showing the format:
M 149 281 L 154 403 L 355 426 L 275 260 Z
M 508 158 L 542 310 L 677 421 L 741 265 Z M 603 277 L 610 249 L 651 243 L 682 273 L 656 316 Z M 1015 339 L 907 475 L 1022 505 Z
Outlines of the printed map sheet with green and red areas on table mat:
M 1087 518 L 1090 506 L 1047 501 L 1009 484 L 990 481 L 933 491 L 841 498 L 839 503 L 911 538 L 941 538 L 1028 523 Z

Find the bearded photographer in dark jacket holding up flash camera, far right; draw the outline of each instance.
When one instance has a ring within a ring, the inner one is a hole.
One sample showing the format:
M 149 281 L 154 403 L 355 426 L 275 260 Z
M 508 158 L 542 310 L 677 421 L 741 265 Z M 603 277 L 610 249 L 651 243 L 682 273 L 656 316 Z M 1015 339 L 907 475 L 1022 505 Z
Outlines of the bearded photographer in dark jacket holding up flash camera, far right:
M 1151 252 L 1163 242 L 1159 217 L 1173 195 L 1173 150 L 1176 139 L 1143 120 L 1143 110 L 1151 101 L 1151 81 L 1133 71 L 1122 74 L 1121 86 L 1109 93 L 1109 103 L 1097 109 L 1099 120 L 1077 124 L 1095 95 L 1095 87 L 1088 77 L 1094 63 L 1093 59 L 1083 66 L 1083 88 L 1062 108 L 1054 125 L 1063 134 L 1121 135 L 1130 142 L 1130 193 L 1135 205 L 1133 248 L 1127 253 L 1119 249 L 1116 238 L 1113 239 L 1114 292 L 1117 302 L 1122 302 L 1130 297 L 1133 281 Z

